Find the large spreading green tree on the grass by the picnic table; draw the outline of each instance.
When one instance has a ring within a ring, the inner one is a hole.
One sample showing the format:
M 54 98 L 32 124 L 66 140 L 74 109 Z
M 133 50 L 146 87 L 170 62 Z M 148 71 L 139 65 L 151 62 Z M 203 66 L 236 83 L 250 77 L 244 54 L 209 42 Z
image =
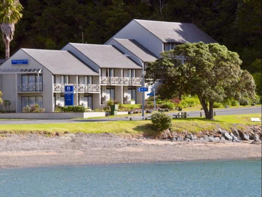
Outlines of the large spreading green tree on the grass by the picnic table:
M 224 45 L 186 43 L 149 63 L 145 77 L 147 82 L 164 80 L 167 97 L 178 93 L 197 95 L 206 118 L 213 119 L 214 102 L 254 99 L 254 79 L 241 70 L 241 63 L 239 55 Z

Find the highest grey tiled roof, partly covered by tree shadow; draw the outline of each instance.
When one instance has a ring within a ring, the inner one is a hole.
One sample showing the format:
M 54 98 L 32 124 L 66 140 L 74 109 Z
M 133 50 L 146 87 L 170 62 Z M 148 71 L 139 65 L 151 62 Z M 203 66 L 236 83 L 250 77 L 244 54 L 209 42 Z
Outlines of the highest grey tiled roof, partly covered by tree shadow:
M 162 42 L 217 42 L 192 23 L 134 20 L 162 40 Z

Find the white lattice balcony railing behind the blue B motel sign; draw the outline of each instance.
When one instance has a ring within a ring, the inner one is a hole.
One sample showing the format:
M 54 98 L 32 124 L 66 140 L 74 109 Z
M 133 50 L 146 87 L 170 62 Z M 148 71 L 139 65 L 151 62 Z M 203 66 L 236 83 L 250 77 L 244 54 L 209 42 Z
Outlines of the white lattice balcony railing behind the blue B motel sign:
M 80 93 L 99 93 L 100 92 L 100 85 L 97 84 L 54 84 L 53 91 L 54 92 L 64 92 L 65 86 L 73 85 L 74 91 Z

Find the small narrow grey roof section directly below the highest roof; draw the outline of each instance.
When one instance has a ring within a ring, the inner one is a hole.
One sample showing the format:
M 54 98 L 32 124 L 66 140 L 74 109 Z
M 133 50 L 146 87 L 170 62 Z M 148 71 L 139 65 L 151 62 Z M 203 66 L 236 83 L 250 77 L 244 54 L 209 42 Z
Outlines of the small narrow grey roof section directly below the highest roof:
M 135 56 L 139 57 L 143 62 L 155 62 L 157 59 L 157 57 L 151 51 L 139 44 L 134 39 L 113 39 Z

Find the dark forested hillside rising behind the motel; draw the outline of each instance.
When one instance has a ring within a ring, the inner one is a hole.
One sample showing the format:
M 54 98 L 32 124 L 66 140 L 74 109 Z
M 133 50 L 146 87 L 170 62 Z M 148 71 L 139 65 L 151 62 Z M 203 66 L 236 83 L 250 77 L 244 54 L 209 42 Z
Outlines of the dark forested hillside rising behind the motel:
M 20 0 L 11 55 L 21 47 L 60 49 L 67 42 L 103 44 L 133 18 L 191 22 L 261 72 L 261 0 Z M 3 42 L 0 56 L 4 58 Z M 257 60 L 260 59 L 260 60 Z

